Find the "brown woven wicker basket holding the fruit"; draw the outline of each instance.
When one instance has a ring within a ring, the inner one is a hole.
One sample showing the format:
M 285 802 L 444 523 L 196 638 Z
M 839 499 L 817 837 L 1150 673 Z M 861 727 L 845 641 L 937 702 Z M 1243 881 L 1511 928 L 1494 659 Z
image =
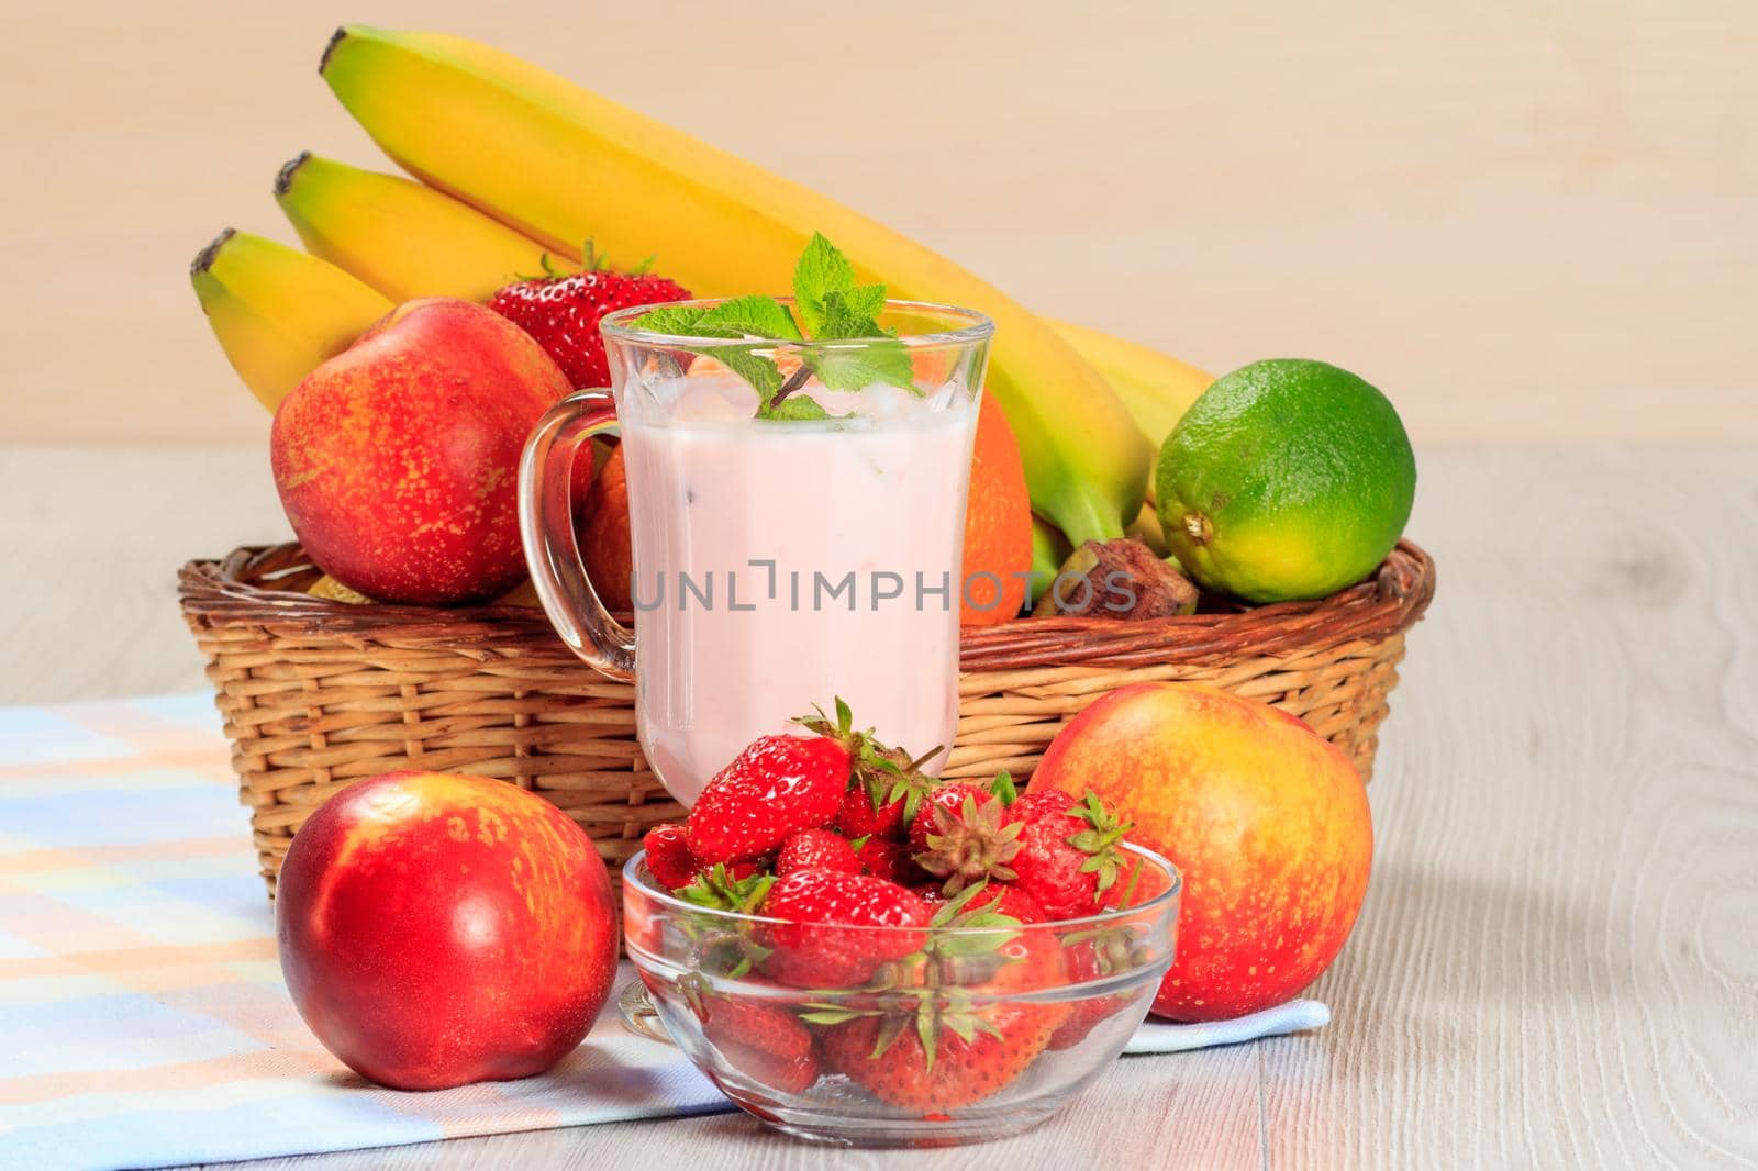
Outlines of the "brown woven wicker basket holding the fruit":
M 271 897 L 311 811 L 392 768 L 533 789 L 578 821 L 612 865 L 640 849 L 649 826 L 682 814 L 635 742 L 633 687 L 575 659 L 540 610 L 346 605 L 302 593 L 318 573 L 299 545 L 239 549 L 179 573 Z M 1371 580 L 1324 601 L 967 629 L 944 775 L 1011 768 L 1023 779 L 1099 695 L 1183 679 L 1303 717 L 1368 777 L 1403 635 L 1433 594 L 1433 561 L 1403 542 Z

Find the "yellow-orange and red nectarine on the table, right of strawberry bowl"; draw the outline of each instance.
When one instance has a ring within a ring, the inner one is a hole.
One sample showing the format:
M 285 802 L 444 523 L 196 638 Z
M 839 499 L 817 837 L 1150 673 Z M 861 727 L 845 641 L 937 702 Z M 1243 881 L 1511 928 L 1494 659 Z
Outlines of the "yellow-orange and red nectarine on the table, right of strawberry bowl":
M 1130 684 L 1057 733 L 1021 800 L 1088 788 L 1183 872 L 1160 1016 L 1282 1004 L 1343 948 L 1373 860 L 1368 793 L 1299 719 L 1215 687 Z

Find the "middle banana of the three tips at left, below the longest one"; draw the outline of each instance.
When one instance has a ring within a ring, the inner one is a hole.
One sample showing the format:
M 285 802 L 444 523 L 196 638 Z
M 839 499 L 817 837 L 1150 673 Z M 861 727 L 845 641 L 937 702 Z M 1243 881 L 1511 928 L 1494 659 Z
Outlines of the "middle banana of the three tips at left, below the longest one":
M 543 273 L 541 244 L 469 204 L 309 151 L 281 167 L 274 200 L 306 251 L 392 301 L 487 301 L 501 285 Z

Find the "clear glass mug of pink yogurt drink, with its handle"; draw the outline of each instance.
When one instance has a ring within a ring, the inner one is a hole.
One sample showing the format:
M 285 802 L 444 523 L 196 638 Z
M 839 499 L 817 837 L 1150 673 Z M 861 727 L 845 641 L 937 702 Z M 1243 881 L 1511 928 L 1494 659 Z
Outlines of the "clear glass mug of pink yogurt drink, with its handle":
M 939 747 L 937 770 L 958 724 L 965 491 L 993 324 L 891 301 L 891 338 L 789 343 L 643 332 L 650 308 L 605 316 L 610 390 L 556 404 L 519 466 L 526 559 L 556 631 L 635 680 L 642 749 L 686 805 L 751 740 L 839 696 L 886 744 Z M 759 359 L 830 418 L 758 418 L 759 392 L 733 369 Z M 904 359 L 914 392 L 832 390 L 814 373 L 835 367 L 842 387 L 854 364 Z M 628 476 L 633 631 L 599 601 L 575 533 L 573 464 L 605 433 Z

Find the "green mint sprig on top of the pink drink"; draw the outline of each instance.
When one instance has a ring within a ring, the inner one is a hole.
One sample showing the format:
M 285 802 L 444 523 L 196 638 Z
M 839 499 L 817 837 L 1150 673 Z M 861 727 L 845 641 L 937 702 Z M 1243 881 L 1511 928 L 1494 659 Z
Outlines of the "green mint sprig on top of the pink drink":
M 884 285 L 856 285 L 854 265 L 814 232 L 793 269 L 796 322 L 781 301 L 765 295 L 735 297 L 712 308 L 659 306 L 633 324 L 657 334 L 781 343 L 860 341 L 854 346 L 812 346 L 798 352 L 800 369 L 782 378 L 774 357 L 751 350 L 714 348 L 716 359 L 758 392 L 758 418 L 830 418 L 807 394 L 810 378 L 828 390 L 861 390 L 875 382 L 921 394 L 914 382 L 909 346 L 879 327 Z M 802 329 L 800 325 L 805 325 Z M 707 352 L 707 348 L 705 348 Z

